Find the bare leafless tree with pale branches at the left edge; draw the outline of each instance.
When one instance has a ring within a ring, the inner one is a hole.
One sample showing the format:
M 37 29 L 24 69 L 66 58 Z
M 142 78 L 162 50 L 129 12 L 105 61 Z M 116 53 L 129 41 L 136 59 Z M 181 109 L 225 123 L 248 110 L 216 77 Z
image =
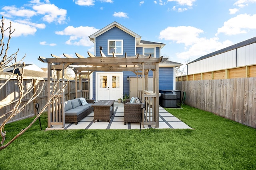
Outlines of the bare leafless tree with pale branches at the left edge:
M 6 148 L 7 146 L 9 146 L 15 139 L 17 139 L 20 135 L 22 135 L 23 133 L 25 133 L 26 130 L 28 130 L 38 119 L 38 117 L 40 117 L 40 115 L 43 113 L 43 111 L 46 109 L 47 106 L 49 106 L 50 104 L 52 104 L 57 98 L 58 96 L 60 96 L 60 94 L 62 93 L 62 91 L 64 90 L 64 88 L 66 87 L 68 81 L 66 82 L 66 84 L 64 85 L 64 87 L 62 87 L 61 89 L 59 89 L 58 84 L 60 83 L 60 80 L 53 80 L 53 84 L 52 84 L 52 94 L 50 96 L 50 98 L 48 98 L 48 101 L 46 102 L 46 105 L 41 109 L 41 111 L 39 112 L 39 114 L 34 118 L 34 120 L 25 128 L 25 129 L 21 129 L 20 133 L 18 133 L 13 139 L 11 139 L 8 143 L 6 143 L 4 145 L 5 139 L 6 139 L 6 131 L 4 131 L 4 127 L 6 125 L 6 123 L 8 123 L 8 121 L 10 121 L 10 119 L 12 119 L 12 117 L 18 115 L 26 105 L 28 105 L 30 102 L 32 102 L 33 100 L 35 100 L 39 94 L 42 92 L 43 86 L 39 86 L 38 85 L 38 81 L 36 81 L 36 83 L 30 87 L 27 87 L 26 91 L 24 89 L 24 66 L 25 64 L 22 63 L 22 60 L 26 57 L 26 55 L 24 55 L 24 57 L 21 60 L 17 60 L 17 55 L 18 55 L 18 51 L 16 51 L 16 53 L 8 56 L 8 50 L 9 50 L 9 44 L 10 44 L 10 39 L 12 38 L 12 33 L 15 31 L 12 31 L 12 25 L 10 22 L 9 27 L 7 27 L 6 29 L 4 29 L 4 17 L 2 17 L 2 25 L 0 26 L 1 29 L 1 33 L 2 33 L 2 38 L 0 40 L 0 72 L 3 71 L 4 67 L 14 67 L 14 70 L 18 67 L 22 67 L 22 72 L 21 75 L 16 75 L 16 79 L 17 79 L 17 84 L 18 84 L 18 88 L 19 88 L 19 96 L 18 98 L 16 98 L 16 100 L 12 101 L 10 104 L 15 103 L 14 107 L 8 111 L 7 113 L 0 115 L 0 119 L 2 119 L 3 117 L 6 117 L 6 115 L 9 115 L 2 123 L 2 125 L 0 125 L 0 133 L 1 133 L 1 138 L 2 141 L 0 143 L 0 150 Z M 5 47 L 4 44 L 4 32 L 9 30 L 9 37 L 8 37 L 8 41 L 7 41 L 7 45 Z M 4 87 L 4 85 L 11 79 L 11 77 L 14 74 L 14 70 L 13 72 L 11 72 L 11 74 L 9 75 L 9 78 L 6 80 L 6 82 L 4 84 L 2 84 L 0 86 L 0 89 Z M 35 91 L 34 91 L 35 90 Z M 24 99 L 24 97 L 29 94 L 30 92 L 33 92 L 32 97 L 24 104 L 22 104 L 22 99 Z

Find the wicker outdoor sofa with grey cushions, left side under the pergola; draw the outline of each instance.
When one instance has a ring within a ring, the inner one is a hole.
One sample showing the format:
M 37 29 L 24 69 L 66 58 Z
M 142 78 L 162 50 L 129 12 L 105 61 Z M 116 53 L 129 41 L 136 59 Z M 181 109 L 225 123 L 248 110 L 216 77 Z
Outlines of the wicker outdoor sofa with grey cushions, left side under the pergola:
M 65 102 L 65 121 L 78 123 L 93 111 L 94 100 L 77 98 Z

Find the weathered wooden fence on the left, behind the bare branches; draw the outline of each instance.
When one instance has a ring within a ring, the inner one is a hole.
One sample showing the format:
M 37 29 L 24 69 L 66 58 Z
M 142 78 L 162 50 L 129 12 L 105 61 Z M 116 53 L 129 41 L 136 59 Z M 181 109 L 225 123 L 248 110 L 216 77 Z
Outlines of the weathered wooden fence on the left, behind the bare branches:
M 0 86 L 6 82 L 7 78 L 5 76 L 0 77 Z M 39 96 L 25 106 L 24 110 L 13 117 L 9 122 L 25 119 L 27 117 L 32 117 L 35 114 L 37 114 L 37 111 L 34 107 L 35 103 L 39 104 L 39 111 L 40 109 L 46 104 L 47 102 L 47 80 L 38 80 L 38 85 L 41 87 L 43 86 L 42 92 L 39 94 Z M 24 90 L 28 89 L 30 86 L 33 86 L 33 84 L 36 83 L 36 78 L 25 78 L 24 79 Z M 79 82 L 78 82 L 79 83 Z M 70 80 L 68 86 L 65 88 L 65 101 L 73 99 L 76 96 L 75 92 L 75 81 Z M 82 81 L 82 89 L 79 89 L 78 86 L 78 97 L 84 97 L 88 99 L 88 82 Z M 32 90 L 31 93 L 25 96 L 25 98 L 22 100 L 22 105 L 25 104 L 35 93 L 35 90 Z M 20 96 L 20 91 L 18 88 L 17 80 L 15 78 L 12 78 L 7 82 L 7 84 L 0 89 L 0 115 L 3 115 L 10 111 L 15 103 L 11 103 L 15 99 L 17 99 Z M 3 123 L 3 121 L 6 119 L 6 117 L 9 115 L 6 115 L 2 119 L 0 119 L 0 124 Z

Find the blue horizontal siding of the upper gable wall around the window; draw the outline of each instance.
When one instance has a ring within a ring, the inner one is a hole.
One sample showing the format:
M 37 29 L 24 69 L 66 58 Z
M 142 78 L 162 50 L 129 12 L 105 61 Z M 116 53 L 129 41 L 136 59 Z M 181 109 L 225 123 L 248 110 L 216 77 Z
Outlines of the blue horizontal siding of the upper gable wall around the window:
M 103 53 L 108 56 L 108 39 L 122 39 L 123 40 L 123 55 L 126 53 L 127 56 L 135 55 L 135 37 L 122 31 L 118 27 L 113 27 L 107 32 L 96 37 L 96 56 L 100 56 L 100 46 L 103 47 Z M 121 56 L 121 55 L 118 55 Z

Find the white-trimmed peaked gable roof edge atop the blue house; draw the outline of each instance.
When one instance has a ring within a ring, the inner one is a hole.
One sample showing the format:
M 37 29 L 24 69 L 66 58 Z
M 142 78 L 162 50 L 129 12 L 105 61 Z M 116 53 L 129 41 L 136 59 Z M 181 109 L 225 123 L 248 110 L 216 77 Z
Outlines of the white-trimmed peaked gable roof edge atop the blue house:
M 109 25 L 107 25 L 106 27 L 98 30 L 96 33 L 92 34 L 89 36 L 90 38 L 90 41 L 94 42 L 95 41 L 95 38 L 98 37 L 99 35 L 105 33 L 106 31 L 112 29 L 113 27 L 118 27 L 119 29 L 121 29 L 122 31 L 132 35 L 133 37 L 135 37 L 136 39 L 136 43 L 139 44 L 140 43 L 140 38 L 141 36 L 134 33 L 133 31 L 131 31 L 130 29 L 124 27 L 123 25 L 121 25 L 120 23 L 117 23 L 116 21 L 110 23 Z

